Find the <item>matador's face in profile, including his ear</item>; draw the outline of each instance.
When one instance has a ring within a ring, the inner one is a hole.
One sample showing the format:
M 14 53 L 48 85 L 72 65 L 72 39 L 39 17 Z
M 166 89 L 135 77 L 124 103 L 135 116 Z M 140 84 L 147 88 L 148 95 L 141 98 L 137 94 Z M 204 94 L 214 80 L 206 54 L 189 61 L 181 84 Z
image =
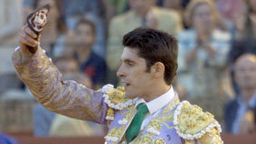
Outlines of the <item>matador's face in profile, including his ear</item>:
M 146 59 L 137 56 L 137 49 L 126 47 L 123 50 L 121 61 L 117 76 L 124 84 L 126 95 L 129 98 L 147 96 L 154 78 L 150 72 L 147 72 Z

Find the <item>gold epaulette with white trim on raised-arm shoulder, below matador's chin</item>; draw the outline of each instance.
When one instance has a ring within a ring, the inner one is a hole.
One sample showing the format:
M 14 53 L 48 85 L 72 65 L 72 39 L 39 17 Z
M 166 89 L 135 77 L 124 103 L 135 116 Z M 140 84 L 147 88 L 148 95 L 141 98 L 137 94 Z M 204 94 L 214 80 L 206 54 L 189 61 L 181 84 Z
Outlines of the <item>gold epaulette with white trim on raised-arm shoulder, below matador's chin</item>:
M 121 86 L 114 88 L 113 85 L 104 85 L 101 89 L 101 92 L 105 98 L 104 102 L 109 106 L 109 110 L 106 116 L 107 120 L 114 120 L 114 110 L 124 110 L 137 101 L 137 98 L 128 99 L 125 94 L 124 87 Z

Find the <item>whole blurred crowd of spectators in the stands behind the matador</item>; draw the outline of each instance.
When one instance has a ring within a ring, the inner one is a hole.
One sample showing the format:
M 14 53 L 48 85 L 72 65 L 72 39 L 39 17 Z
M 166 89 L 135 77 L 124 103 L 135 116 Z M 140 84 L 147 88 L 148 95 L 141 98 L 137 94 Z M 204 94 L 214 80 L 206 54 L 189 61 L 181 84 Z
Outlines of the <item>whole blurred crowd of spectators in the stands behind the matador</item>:
M 173 85 L 181 100 L 212 112 L 225 132 L 256 131 L 256 0 L 0 0 L 0 132 L 106 133 L 44 109 L 14 72 L 17 33 L 44 4 L 51 12 L 40 45 L 64 79 L 94 90 L 121 85 L 123 35 L 140 26 L 166 31 L 179 44 Z

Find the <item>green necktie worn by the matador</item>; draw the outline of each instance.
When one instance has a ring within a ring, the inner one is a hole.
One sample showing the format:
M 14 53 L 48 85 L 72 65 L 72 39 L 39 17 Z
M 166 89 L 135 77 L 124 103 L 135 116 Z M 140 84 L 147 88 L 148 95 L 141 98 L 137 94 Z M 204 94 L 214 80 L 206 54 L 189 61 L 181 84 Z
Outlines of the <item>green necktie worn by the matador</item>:
M 138 104 L 137 114 L 131 121 L 128 130 L 126 131 L 126 139 L 128 143 L 137 137 L 142 121 L 144 120 L 144 117 L 147 114 L 147 112 L 148 109 L 145 103 Z

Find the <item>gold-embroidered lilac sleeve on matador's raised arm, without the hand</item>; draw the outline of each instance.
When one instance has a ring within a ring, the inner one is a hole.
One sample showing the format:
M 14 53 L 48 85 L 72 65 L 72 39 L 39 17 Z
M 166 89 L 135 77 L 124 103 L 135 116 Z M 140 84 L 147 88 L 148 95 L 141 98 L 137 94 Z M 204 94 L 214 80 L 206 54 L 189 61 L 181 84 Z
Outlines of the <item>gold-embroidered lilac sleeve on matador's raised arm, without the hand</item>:
M 20 50 L 14 53 L 18 57 Z M 38 48 L 31 58 L 14 67 L 36 99 L 53 112 L 87 121 L 99 121 L 102 111 L 100 103 L 90 99 L 96 94 L 73 81 L 63 81 L 62 75 L 52 61 Z M 93 102 L 91 102 L 93 101 Z

